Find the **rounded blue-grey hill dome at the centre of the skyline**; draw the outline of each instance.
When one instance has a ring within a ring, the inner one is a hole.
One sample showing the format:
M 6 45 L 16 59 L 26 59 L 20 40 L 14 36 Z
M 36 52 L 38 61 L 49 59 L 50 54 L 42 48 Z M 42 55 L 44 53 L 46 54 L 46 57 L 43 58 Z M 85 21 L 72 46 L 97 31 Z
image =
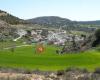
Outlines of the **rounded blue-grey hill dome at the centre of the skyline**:
M 74 27 L 74 25 L 77 24 L 74 21 L 71 21 L 66 18 L 57 17 L 57 16 L 37 17 L 37 18 L 33 18 L 33 19 L 28 19 L 27 21 L 31 22 L 33 24 L 39 24 L 39 25 L 43 25 L 43 26 L 47 26 L 47 27 L 60 27 L 60 26 Z

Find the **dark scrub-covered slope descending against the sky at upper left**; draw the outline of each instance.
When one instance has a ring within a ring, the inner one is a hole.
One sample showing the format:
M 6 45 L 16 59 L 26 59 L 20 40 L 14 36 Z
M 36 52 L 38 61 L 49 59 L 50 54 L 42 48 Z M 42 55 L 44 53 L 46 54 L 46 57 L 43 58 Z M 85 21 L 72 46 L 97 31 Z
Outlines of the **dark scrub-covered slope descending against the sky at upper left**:
M 19 19 L 5 11 L 0 10 L 0 19 L 9 24 L 23 24 L 26 23 L 24 20 Z

